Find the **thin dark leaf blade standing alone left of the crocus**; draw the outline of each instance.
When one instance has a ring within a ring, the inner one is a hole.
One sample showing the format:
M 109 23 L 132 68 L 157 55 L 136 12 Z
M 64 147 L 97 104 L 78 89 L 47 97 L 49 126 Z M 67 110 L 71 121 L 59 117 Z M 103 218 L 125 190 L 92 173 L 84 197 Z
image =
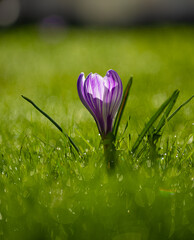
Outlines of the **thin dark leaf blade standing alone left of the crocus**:
M 80 149 L 75 145 L 75 143 L 73 142 L 73 140 L 69 137 L 69 135 L 64 132 L 64 130 L 59 126 L 58 123 L 56 123 L 47 113 L 45 113 L 43 110 L 41 110 L 32 100 L 30 100 L 29 98 L 25 97 L 22 95 L 22 97 L 28 101 L 29 103 L 31 103 L 40 113 L 42 113 L 50 122 L 52 122 L 52 124 L 55 125 L 56 128 L 58 128 L 58 130 L 60 132 L 62 132 L 65 137 L 69 140 L 70 144 L 74 147 L 74 149 L 76 150 L 76 152 L 81 155 L 81 151 Z

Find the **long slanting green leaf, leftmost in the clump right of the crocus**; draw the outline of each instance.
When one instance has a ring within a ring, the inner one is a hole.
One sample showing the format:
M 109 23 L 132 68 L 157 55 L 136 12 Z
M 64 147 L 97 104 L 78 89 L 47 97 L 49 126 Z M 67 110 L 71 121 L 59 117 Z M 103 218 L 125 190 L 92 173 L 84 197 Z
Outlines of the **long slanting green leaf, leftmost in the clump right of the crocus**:
M 171 97 L 169 97 L 161 106 L 160 108 L 156 111 L 156 113 L 150 118 L 149 122 L 145 125 L 144 129 L 142 130 L 142 132 L 140 133 L 140 135 L 138 136 L 136 142 L 134 143 L 133 147 L 132 147 L 132 152 L 134 153 L 137 148 L 139 147 L 139 144 L 141 143 L 141 141 L 143 140 L 144 136 L 146 135 L 146 133 L 149 131 L 150 127 L 152 127 L 153 123 L 158 119 L 158 117 L 162 114 L 162 112 L 164 111 L 164 109 L 169 105 L 169 103 L 172 101 L 172 99 L 175 98 L 175 96 L 177 95 L 178 90 L 175 90 L 174 93 L 172 94 Z

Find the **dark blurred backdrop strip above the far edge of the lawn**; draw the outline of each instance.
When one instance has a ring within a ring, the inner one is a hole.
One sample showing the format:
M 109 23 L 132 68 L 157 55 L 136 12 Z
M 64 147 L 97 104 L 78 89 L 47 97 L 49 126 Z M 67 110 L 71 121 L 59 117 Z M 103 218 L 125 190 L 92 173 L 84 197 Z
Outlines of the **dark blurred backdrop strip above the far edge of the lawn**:
M 1 0 L 0 25 L 58 15 L 69 24 L 128 26 L 194 20 L 192 0 Z

